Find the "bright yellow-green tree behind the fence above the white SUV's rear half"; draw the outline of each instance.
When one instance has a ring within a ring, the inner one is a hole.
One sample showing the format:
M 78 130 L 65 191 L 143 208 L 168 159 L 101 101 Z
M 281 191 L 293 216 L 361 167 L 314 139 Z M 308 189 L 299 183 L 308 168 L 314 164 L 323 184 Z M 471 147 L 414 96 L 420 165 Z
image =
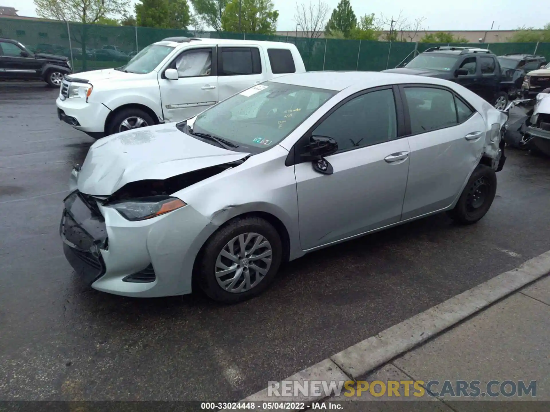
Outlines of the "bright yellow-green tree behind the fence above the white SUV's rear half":
M 279 12 L 271 0 L 241 0 L 241 32 L 273 34 L 277 29 Z M 239 0 L 232 0 L 222 14 L 224 31 L 239 31 Z

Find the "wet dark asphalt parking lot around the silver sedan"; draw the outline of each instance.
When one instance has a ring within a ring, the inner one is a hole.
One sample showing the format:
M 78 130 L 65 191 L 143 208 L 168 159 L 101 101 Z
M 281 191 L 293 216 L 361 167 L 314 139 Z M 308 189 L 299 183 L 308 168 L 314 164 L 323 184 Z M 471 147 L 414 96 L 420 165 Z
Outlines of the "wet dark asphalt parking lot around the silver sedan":
M 0 399 L 239 400 L 550 249 L 550 159 L 508 151 L 478 224 L 432 216 L 296 260 L 230 307 L 83 286 L 58 227 L 94 141 L 0 83 Z

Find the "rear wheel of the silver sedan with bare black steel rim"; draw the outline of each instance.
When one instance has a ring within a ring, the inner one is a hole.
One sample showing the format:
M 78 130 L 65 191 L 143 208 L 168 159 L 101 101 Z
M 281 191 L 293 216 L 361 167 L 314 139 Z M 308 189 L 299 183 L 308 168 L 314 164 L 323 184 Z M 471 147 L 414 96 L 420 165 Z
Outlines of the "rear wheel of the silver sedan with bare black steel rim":
M 471 225 L 485 216 L 496 193 L 497 175 L 494 170 L 486 165 L 477 165 L 448 215 L 461 225 Z

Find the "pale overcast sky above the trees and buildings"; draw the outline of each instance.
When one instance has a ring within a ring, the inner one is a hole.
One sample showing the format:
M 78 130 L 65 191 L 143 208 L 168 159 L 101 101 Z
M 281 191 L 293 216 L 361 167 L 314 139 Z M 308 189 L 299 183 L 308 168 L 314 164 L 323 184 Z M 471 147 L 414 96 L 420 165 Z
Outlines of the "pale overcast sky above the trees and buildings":
M 317 2 L 317 0 L 313 0 Z M 332 10 L 339 0 L 324 0 Z M 298 0 L 298 3 L 309 0 Z M 401 12 L 409 21 L 425 18 L 424 30 L 513 30 L 519 26 L 543 27 L 550 22 L 550 13 L 541 7 L 540 0 L 461 0 L 460 2 L 441 0 L 384 0 L 367 2 L 350 0 L 357 17 L 375 13 L 377 16 L 395 17 Z M 279 10 L 277 30 L 296 29 L 294 12 L 296 0 L 273 0 L 275 9 Z M 15 7 L 20 16 L 36 16 L 32 0 L 0 0 L 0 5 Z

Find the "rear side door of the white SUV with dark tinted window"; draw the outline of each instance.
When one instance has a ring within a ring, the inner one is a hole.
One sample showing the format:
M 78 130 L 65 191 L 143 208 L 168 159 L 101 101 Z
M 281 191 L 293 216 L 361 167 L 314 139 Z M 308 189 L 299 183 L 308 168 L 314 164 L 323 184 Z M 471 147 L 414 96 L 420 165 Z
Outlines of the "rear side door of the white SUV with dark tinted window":
M 265 77 L 265 61 L 259 47 L 218 47 L 219 99 L 262 82 Z

